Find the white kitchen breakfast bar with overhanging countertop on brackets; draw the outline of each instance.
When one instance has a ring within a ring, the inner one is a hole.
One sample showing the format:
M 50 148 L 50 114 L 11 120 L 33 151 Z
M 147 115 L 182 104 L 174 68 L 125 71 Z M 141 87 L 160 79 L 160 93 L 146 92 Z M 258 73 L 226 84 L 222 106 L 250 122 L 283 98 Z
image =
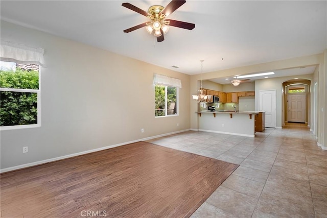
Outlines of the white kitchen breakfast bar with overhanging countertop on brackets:
M 259 112 L 246 111 L 197 111 L 198 130 L 254 137 L 254 115 Z

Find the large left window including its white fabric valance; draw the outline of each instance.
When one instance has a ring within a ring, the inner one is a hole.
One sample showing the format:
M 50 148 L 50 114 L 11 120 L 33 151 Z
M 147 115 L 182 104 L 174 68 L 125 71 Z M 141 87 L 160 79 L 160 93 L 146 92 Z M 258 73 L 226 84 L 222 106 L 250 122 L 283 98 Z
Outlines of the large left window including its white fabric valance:
M 44 50 L 1 41 L 0 129 L 39 127 L 41 93 L 40 68 Z

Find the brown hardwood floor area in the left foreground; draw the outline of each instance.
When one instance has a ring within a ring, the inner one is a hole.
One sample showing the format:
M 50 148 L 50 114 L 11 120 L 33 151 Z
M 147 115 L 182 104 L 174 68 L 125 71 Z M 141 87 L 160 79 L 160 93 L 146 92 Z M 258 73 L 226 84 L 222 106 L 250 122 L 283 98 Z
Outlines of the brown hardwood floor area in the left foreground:
M 2 217 L 189 217 L 238 167 L 148 142 L 1 175 Z

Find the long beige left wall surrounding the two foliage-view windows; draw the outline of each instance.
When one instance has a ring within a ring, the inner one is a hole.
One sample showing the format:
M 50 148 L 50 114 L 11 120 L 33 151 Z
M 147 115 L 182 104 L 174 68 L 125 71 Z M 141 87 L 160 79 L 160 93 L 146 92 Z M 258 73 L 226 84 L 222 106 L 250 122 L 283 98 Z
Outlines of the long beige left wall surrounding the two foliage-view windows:
M 41 127 L 1 131 L 2 169 L 190 128 L 189 75 L 5 21 L 1 39 L 43 47 L 46 63 Z M 155 118 L 154 73 L 181 80 L 179 116 Z

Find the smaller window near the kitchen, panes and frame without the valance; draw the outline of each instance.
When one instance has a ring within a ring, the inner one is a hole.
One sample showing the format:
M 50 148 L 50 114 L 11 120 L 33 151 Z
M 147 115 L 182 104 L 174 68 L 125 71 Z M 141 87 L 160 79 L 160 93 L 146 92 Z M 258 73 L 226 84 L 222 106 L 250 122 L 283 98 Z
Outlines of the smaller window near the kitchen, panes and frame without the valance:
M 155 85 L 155 116 L 177 115 L 178 88 Z

